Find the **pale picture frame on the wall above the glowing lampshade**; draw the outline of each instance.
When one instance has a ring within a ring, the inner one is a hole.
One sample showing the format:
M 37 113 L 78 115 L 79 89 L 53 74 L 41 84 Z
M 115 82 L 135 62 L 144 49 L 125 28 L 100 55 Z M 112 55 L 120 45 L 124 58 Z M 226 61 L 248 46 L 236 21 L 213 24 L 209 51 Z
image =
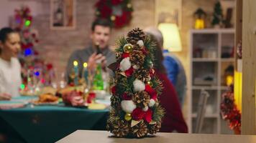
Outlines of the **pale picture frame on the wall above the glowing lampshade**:
M 155 0 L 155 24 L 163 22 L 175 23 L 181 28 L 182 0 Z

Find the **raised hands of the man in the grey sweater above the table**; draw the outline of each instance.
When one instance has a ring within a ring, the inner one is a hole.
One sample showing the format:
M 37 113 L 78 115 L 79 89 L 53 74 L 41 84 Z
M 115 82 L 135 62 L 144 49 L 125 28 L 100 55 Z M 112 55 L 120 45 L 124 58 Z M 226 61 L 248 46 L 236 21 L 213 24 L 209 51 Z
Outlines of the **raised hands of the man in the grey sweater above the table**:
M 88 70 L 93 71 L 96 69 L 96 61 L 101 61 L 102 69 L 106 69 L 106 57 L 102 54 L 93 53 L 88 59 Z

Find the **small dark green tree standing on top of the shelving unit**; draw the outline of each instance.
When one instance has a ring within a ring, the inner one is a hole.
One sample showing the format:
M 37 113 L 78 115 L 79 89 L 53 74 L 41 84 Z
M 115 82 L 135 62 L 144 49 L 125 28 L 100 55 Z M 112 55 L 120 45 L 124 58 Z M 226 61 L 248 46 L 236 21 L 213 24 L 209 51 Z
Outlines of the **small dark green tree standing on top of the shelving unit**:
M 221 3 L 218 1 L 214 6 L 214 19 L 211 21 L 212 26 L 220 25 L 223 20 Z

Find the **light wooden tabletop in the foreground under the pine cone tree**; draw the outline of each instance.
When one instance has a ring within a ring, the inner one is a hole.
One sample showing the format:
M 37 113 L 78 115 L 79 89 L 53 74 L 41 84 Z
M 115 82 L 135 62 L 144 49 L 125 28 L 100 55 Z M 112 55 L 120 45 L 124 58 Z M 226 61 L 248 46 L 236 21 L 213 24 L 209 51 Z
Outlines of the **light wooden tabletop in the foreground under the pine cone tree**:
M 179 133 L 157 133 L 155 137 L 143 139 L 122 139 L 110 137 L 106 131 L 77 130 L 67 137 L 60 139 L 57 143 L 255 143 L 256 136 L 252 135 L 224 135 L 224 134 L 179 134 Z

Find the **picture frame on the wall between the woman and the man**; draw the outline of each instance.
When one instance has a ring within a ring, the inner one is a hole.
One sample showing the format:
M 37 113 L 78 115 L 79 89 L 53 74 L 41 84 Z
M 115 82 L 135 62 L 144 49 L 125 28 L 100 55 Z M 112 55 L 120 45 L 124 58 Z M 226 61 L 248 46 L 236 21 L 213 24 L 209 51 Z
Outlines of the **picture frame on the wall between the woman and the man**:
M 50 0 L 50 29 L 76 29 L 76 0 Z

